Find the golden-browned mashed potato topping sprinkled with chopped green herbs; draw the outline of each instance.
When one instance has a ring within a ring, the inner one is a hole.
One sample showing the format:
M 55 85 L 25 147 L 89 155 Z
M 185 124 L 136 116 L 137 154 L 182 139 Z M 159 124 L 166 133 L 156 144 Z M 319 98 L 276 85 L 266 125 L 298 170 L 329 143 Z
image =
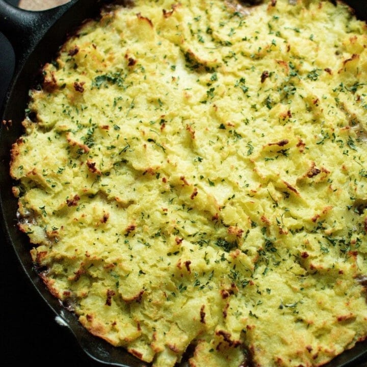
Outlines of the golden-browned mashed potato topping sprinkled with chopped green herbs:
M 14 144 L 51 293 L 154 366 L 313 366 L 367 335 L 367 32 L 347 6 L 137 0 L 44 67 Z

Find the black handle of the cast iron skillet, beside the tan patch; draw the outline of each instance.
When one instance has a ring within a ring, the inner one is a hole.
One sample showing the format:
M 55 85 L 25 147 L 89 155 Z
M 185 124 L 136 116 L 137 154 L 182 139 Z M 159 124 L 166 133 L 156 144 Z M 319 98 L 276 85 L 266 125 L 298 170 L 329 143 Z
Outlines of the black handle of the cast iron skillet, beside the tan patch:
M 18 65 L 27 59 L 51 25 L 76 1 L 45 11 L 28 11 L 0 0 L 0 32 L 12 44 Z

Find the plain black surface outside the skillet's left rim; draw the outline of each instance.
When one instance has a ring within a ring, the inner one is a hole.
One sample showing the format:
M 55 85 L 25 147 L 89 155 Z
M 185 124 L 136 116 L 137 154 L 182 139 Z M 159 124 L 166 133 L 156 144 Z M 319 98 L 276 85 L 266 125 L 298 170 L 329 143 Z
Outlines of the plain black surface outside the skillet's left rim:
M 17 5 L 18 2 L 9 3 Z M 14 68 L 14 54 L 3 34 L 0 34 L 0 49 L 1 105 Z M 4 251 L 0 257 L 3 292 L 1 350 L 4 365 L 21 365 L 23 356 L 27 356 L 37 360 L 39 365 L 100 367 L 102 364 L 92 361 L 71 333 L 55 322 L 54 313 L 27 279 L 1 227 L 0 244 Z M 40 340 L 47 340 L 47 348 Z

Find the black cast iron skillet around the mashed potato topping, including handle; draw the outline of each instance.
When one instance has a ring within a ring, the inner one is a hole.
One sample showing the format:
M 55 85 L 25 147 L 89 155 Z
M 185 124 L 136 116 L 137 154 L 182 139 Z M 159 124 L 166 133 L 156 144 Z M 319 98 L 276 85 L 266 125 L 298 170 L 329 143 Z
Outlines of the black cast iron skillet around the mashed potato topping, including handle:
M 15 250 L 21 267 L 38 293 L 55 312 L 59 322 L 70 328 L 82 349 L 101 363 L 143 367 L 145 363 L 124 349 L 115 348 L 91 335 L 78 323 L 76 317 L 45 289 L 33 269 L 29 254 L 29 239 L 16 226 L 17 200 L 11 192 L 14 182 L 9 175 L 11 145 L 22 134 L 21 121 L 28 102 L 28 91 L 34 86 L 40 67 L 55 57 L 59 46 L 84 19 L 98 16 L 101 6 L 106 3 L 107 0 L 71 0 L 64 6 L 44 12 L 29 12 L 14 8 L 4 0 L 0 0 L 0 32 L 3 32 L 12 43 L 16 57 L 13 80 L 0 113 L 0 121 L 7 122 L 2 123 L 0 127 L 0 220 L 7 241 Z M 358 18 L 367 20 L 367 5 L 364 1 L 349 0 L 346 3 L 355 9 Z M 65 346 L 60 347 L 65 348 L 67 352 Z M 21 346 L 19 349 L 21 350 Z M 355 367 L 365 360 L 367 360 L 367 340 L 336 357 L 325 367 Z

